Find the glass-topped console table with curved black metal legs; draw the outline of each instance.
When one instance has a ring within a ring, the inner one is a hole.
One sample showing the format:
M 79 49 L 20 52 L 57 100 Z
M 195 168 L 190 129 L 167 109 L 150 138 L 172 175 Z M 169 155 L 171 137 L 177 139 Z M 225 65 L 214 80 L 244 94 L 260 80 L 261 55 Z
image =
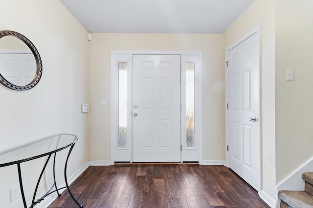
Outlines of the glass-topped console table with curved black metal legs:
M 47 195 L 49 195 L 51 193 L 57 192 L 58 196 L 61 196 L 61 194 L 59 193 L 59 190 L 65 189 L 65 188 L 67 188 L 70 196 L 76 202 L 76 204 L 79 207 L 84 207 L 83 204 L 80 204 L 76 200 L 76 198 L 74 197 L 74 195 L 70 191 L 69 186 L 67 184 L 67 161 L 68 161 L 68 157 L 69 157 L 72 149 L 74 148 L 74 145 L 75 145 L 77 140 L 78 140 L 77 135 L 61 133 L 61 134 L 52 135 L 52 136 L 34 141 L 34 142 L 26 144 L 26 145 L 22 145 L 20 147 L 17 147 L 17 148 L 8 150 L 8 151 L 0 152 L 0 168 L 17 164 L 24 208 L 27 208 L 27 205 L 26 205 L 26 200 L 25 200 L 25 195 L 24 195 L 24 190 L 23 190 L 23 184 L 22 184 L 21 163 L 27 162 L 29 160 L 41 158 L 44 156 L 47 156 L 47 159 L 45 161 L 44 168 L 41 171 L 41 174 L 39 176 L 30 208 L 33 208 L 36 204 L 40 203 L 42 200 L 44 200 L 44 198 Z M 55 180 L 56 153 L 58 151 L 65 150 L 67 148 L 69 148 L 69 151 L 67 153 L 67 159 L 66 159 L 65 166 L 64 166 L 64 177 L 65 177 L 66 186 L 62 187 L 62 188 L 58 188 L 57 184 L 56 184 L 56 180 Z M 46 166 L 49 162 L 49 159 L 52 155 L 54 157 L 54 159 L 53 159 L 53 181 L 54 181 L 54 183 L 53 183 L 51 189 L 49 189 L 45 193 L 44 196 L 42 196 L 40 199 L 37 199 L 35 201 L 35 197 L 36 197 L 36 193 L 37 193 L 37 189 L 38 189 L 40 180 L 44 174 L 45 168 L 46 168 Z

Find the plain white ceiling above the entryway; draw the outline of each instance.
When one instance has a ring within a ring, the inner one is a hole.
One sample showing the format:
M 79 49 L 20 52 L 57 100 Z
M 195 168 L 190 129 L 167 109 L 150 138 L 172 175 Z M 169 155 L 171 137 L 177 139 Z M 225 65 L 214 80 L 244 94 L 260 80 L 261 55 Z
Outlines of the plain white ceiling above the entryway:
M 223 33 L 255 0 L 60 0 L 90 33 Z

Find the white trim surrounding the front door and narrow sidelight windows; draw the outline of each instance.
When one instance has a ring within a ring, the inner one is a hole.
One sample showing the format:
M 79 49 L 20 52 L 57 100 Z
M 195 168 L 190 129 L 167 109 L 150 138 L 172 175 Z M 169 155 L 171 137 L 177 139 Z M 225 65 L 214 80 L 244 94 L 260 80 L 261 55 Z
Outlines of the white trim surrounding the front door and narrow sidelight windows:
M 190 158 L 188 155 L 189 152 L 197 152 L 197 160 L 202 164 L 202 52 L 201 51 L 111 51 L 111 165 L 115 161 L 126 161 L 125 159 L 120 158 L 129 158 L 132 162 L 132 142 L 128 143 L 127 150 L 117 150 L 117 137 L 118 137 L 118 70 L 116 70 L 116 63 L 120 61 L 125 61 L 129 66 L 132 66 L 132 55 L 133 54 L 178 54 L 181 55 L 182 63 L 188 61 L 197 62 L 197 70 L 195 71 L 195 126 L 197 130 L 195 131 L 195 138 L 197 147 L 195 149 L 185 149 L 182 148 L 181 151 L 181 162 L 188 161 Z M 182 67 L 182 70 L 184 67 Z M 131 67 L 129 67 L 131 70 Z M 132 74 L 131 71 L 129 73 Z M 130 76 L 131 77 L 131 76 Z M 131 78 L 129 80 L 129 86 L 132 86 Z M 183 99 L 183 97 L 182 97 Z M 182 102 L 183 103 L 183 102 Z M 129 102 L 128 109 L 132 109 L 132 103 Z M 183 111 L 182 111 L 183 112 Z M 132 116 L 130 116 L 131 118 Z M 183 120 L 185 116 L 181 116 Z M 131 125 L 131 122 L 129 122 Z M 183 124 L 182 124 L 183 126 Z M 131 128 L 130 128 L 131 129 Z M 182 132 L 184 132 L 182 128 Z M 131 132 L 128 132 L 128 135 L 131 135 Z M 183 134 L 182 134 L 183 135 Z M 184 145 L 184 140 L 182 139 L 182 145 Z M 121 153 L 123 152 L 123 153 Z M 120 155 L 123 155 L 120 157 Z M 184 158 L 187 158 L 185 160 Z M 193 160 L 195 161 L 195 160 Z

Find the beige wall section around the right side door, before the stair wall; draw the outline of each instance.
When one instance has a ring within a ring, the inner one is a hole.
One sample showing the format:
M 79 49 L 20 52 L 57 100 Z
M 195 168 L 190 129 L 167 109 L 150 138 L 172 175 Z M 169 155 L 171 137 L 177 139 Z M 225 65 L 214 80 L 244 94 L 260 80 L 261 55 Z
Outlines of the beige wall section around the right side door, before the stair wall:
M 275 180 L 275 1 L 257 0 L 224 33 L 224 48 L 257 25 L 261 27 L 262 192 L 276 199 Z

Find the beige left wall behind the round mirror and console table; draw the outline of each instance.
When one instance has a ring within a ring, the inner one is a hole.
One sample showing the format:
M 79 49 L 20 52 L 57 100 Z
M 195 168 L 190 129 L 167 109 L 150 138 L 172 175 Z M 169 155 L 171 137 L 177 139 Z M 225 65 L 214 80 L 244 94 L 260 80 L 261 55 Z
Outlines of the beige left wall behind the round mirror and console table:
M 81 103 L 88 101 L 87 31 L 58 0 L 1 0 L 0 19 L 0 30 L 29 38 L 43 62 L 35 88 L 16 92 L 0 86 L 0 151 L 54 133 L 78 134 L 68 165 L 71 176 L 88 161 L 88 114 L 81 113 Z M 39 173 L 37 162 L 22 164 L 28 206 Z M 21 196 L 10 203 L 9 189 L 18 183 L 16 166 L 0 168 L 1 208 L 23 207 Z M 45 183 L 38 195 L 43 189 Z

